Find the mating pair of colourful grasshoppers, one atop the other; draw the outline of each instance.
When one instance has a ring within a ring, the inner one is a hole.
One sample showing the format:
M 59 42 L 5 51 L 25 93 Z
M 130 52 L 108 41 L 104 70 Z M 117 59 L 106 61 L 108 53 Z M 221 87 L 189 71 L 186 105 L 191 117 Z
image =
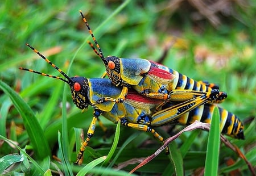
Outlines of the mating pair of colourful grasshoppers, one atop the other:
M 28 44 L 28 47 L 58 70 L 66 79 L 20 68 L 68 83 L 73 102 L 77 107 L 85 110 L 91 105 L 94 108 L 93 119 L 76 164 L 82 162 L 82 154 L 93 136 L 96 121 L 100 115 L 105 116 L 113 123 L 121 120 L 122 125 L 151 132 L 159 141 L 163 142 L 163 137 L 155 131 L 154 127 L 173 121 L 179 121 L 183 124 L 193 123 L 193 121 L 185 120 L 185 118 L 194 118 L 196 115 L 199 116 L 199 120 L 209 123 L 213 109 L 216 107 L 212 103 L 219 103 L 226 98 L 226 94 L 218 91 L 218 89 L 212 89 L 204 82 L 193 81 L 193 79 L 155 62 L 114 56 L 104 58 L 83 15 L 82 19 L 99 52 L 93 48 L 92 44 L 91 46 L 104 61 L 111 81 L 103 78 L 68 77 L 55 64 Z M 243 139 L 241 121 L 230 112 L 221 108 L 220 110 L 222 132 Z

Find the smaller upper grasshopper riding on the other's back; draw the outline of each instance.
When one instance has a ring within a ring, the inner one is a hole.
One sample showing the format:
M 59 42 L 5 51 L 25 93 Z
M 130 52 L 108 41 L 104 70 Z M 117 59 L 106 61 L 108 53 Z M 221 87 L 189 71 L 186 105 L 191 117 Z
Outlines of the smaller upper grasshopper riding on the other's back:
M 150 98 L 162 99 L 165 100 L 165 102 L 183 102 L 189 98 L 201 96 L 205 92 L 210 92 L 212 91 L 212 88 L 218 89 L 218 87 L 211 87 L 210 84 L 205 82 L 196 82 L 193 79 L 154 61 L 148 61 L 142 58 L 119 58 L 116 56 L 104 57 L 100 45 L 97 43 L 97 40 L 81 11 L 80 14 L 98 51 L 93 47 L 92 43 L 89 41 L 88 43 L 105 64 L 106 73 L 102 78 L 107 74 L 114 85 L 122 86 L 122 92 L 117 99 L 102 97 L 102 102 L 106 100 L 123 102 L 130 87 L 133 87 L 139 94 Z M 201 94 L 195 94 L 194 91 L 200 91 Z M 173 97 L 173 95 L 175 96 Z M 220 103 L 226 97 L 227 94 L 221 92 L 213 103 Z

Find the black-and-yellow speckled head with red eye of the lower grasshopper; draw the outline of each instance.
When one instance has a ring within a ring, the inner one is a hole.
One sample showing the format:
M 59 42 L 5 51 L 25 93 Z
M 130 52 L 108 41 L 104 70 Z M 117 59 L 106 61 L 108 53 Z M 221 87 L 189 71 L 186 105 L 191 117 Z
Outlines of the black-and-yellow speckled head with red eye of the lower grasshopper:
M 72 100 L 78 108 L 84 110 L 89 105 L 89 85 L 88 79 L 84 77 L 72 77 L 68 81 L 71 89 Z

